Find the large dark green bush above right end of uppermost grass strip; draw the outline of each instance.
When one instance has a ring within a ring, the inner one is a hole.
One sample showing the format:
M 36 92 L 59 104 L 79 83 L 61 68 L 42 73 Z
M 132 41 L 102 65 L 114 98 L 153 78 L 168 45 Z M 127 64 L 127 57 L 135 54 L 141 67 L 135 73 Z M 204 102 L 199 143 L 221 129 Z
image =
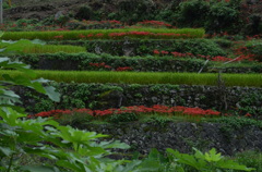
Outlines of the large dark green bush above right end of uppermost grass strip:
M 240 0 L 230 1 L 183 1 L 175 11 L 178 26 L 204 27 L 207 33 L 239 33 L 241 29 Z

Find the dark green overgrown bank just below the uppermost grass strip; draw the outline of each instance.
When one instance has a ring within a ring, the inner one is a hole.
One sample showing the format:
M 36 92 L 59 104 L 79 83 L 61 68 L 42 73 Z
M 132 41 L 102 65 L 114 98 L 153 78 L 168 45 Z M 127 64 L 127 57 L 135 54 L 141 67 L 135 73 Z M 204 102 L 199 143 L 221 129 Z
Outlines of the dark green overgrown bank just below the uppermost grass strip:
M 61 40 L 49 44 L 84 46 L 88 52 L 109 53 L 112 56 L 153 54 L 155 49 L 165 51 L 190 52 L 203 56 L 226 56 L 222 45 L 212 39 L 172 39 L 172 40 Z

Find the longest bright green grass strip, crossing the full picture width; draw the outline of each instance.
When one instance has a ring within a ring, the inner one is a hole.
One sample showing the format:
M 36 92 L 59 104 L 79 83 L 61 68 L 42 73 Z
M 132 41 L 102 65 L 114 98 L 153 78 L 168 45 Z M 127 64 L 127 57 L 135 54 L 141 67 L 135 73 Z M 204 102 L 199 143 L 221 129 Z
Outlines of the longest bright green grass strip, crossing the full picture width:
M 0 75 L 4 73 L 21 75 L 16 71 L 0 71 Z M 36 74 L 38 77 L 66 83 L 217 85 L 217 74 L 214 73 L 36 71 Z M 262 87 L 261 74 L 223 74 L 222 78 L 226 86 Z

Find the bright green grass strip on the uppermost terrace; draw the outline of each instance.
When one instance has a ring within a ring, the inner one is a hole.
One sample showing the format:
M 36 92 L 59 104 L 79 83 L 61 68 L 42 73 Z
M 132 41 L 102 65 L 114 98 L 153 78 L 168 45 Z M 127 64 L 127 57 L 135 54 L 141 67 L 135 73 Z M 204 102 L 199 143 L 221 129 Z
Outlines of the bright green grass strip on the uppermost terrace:
M 56 36 L 62 36 L 61 39 L 75 40 L 80 39 L 80 35 L 87 36 L 90 34 L 103 34 L 99 39 L 109 39 L 110 33 L 129 33 L 129 32 L 148 32 L 154 34 L 187 34 L 190 38 L 201 38 L 204 36 L 203 28 L 181 28 L 181 29 L 168 29 L 168 28 L 118 28 L 118 29 L 87 29 L 87 30 L 70 30 L 70 32 L 7 32 L 2 36 L 5 40 L 19 40 L 19 39 L 41 39 L 52 40 Z M 143 36 L 140 36 L 143 38 Z M 150 38 L 144 36 L 144 38 Z

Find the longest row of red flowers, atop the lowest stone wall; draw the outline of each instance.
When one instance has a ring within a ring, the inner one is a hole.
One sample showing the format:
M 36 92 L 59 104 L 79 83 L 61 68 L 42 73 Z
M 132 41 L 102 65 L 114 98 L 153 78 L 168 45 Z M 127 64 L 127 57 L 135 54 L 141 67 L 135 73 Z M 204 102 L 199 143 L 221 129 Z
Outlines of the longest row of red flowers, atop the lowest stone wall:
M 110 114 L 124 114 L 124 113 L 164 113 L 164 114 L 183 114 L 191 116 L 217 116 L 221 112 L 214 110 L 203 110 L 200 108 L 187 108 L 187 107 L 166 107 L 155 105 L 152 108 L 144 106 L 124 107 L 120 109 L 107 109 L 107 110 L 91 110 L 91 109 L 74 109 L 74 110 L 51 110 L 48 112 L 40 112 L 32 116 L 58 116 L 61 114 L 74 114 L 74 113 L 86 113 L 93 116 L 105 116 Z

